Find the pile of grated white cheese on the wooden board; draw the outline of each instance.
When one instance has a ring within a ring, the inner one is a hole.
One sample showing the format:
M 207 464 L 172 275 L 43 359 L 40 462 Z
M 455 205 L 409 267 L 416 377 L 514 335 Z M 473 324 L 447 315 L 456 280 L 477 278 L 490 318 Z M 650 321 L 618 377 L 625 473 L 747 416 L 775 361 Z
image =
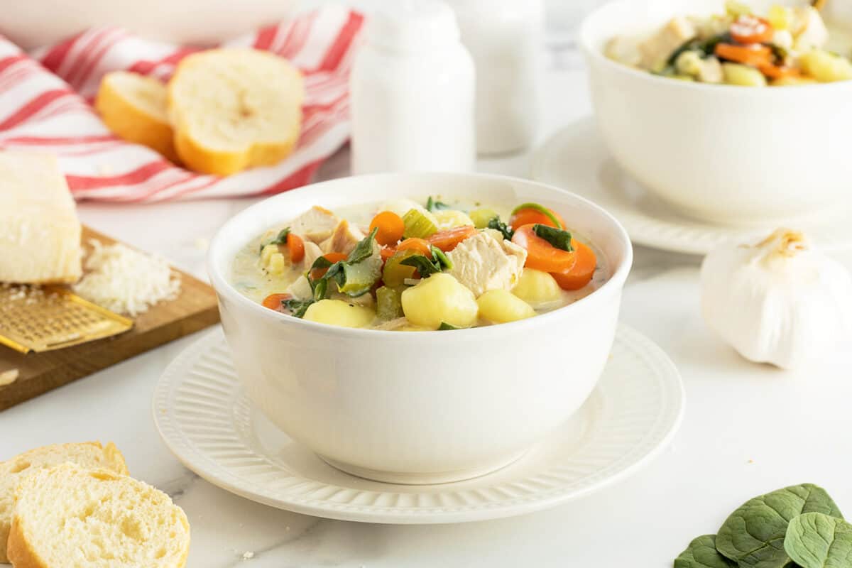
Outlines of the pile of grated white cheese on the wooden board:
M 74 291 L 86 300 L 116 313 L 135 316 L 158 301 L 174 300 L 181 280 L 164 258 L 147 255 L 124 244 L 104 246 L 91 239 L 85 275 Z

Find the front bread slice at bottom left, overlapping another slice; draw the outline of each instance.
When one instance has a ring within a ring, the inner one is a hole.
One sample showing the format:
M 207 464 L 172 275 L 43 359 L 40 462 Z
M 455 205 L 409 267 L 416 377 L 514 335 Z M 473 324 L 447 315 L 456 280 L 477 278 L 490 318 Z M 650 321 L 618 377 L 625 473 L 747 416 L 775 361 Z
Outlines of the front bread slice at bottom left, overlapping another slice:
M 181 568 L 189 521 L 162 491 L 106 469 L 42 469 L 15 491 L 15 568 Z

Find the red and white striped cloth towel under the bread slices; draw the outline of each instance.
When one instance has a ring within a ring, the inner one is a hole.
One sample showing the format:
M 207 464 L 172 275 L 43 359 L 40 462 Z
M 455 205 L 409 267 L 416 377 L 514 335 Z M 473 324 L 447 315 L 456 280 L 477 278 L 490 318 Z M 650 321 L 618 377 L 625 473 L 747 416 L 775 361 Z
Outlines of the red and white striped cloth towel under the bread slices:
M 227 178 L 199 175 L 113 136 L 89 104 L 101 77 L 124 69 L 166 80 L 182 57 L 198 50 L 119 28 L 84 32 L 32 57 L 0 36 L 0 148 L 55 153 L 77 199 L 236 197 L 305 185 L 348 139 L 348 75 L 362 24 L 357 12 L 331 6 L 223 44 L 268 49 L 305 74 L 302 135 L 295 152 L 275 166 Z

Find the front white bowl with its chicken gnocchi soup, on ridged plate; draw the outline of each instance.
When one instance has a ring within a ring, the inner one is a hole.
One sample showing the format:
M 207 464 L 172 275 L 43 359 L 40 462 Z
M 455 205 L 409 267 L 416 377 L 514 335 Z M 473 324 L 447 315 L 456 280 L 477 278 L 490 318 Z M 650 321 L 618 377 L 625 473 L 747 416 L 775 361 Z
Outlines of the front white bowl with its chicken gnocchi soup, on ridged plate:
M 439 483 L 513 462 L 583 404 L 631 260 L 618 221 L 573 194 L 396 174 L 246 209 L 209 269 L 272 422 L 349 473 Z

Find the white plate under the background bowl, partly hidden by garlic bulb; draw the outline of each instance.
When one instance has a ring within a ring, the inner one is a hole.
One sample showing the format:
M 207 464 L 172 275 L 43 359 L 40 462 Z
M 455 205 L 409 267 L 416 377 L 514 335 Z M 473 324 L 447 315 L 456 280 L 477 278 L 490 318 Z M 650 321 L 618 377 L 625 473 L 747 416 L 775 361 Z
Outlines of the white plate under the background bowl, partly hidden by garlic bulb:
M 772 227 L 732 227 L 682 215 L 620 169 L 598 134 L 595 119 L 580 119 L 552 135 L 533 156 L 533 180 L 561 187 L 601 205 L 630 239 L 655 249 L 705 255 L 718 244 L 765 237 Z M 852 204 L 830 217 L 792 221 L 823 250 L 852 248 Z

